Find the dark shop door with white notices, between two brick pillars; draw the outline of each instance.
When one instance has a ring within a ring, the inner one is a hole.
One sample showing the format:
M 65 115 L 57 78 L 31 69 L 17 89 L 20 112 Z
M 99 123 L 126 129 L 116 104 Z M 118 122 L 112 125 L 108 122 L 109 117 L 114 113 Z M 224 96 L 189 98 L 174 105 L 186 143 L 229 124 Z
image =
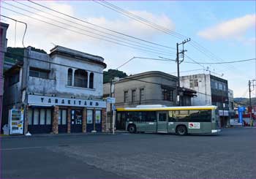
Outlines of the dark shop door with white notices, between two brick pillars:
M 83 132 L 83 110 L 71 110 L 70 132 Z

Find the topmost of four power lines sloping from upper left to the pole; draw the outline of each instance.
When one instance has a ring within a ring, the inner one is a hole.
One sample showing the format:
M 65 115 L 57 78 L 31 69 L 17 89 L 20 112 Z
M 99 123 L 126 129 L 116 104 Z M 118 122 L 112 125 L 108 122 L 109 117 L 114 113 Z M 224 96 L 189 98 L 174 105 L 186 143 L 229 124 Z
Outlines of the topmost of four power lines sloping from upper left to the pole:
M 33 4 L 37 4 L 37 5 L 40 6 L 40 7 L 44 7 L 45 9 L 49 9 L 49 10 L 51 10 L 51 11 L 53 11 L 53 12 L 57 12 L 57 13 L 59 13 L 59 14 L 61 14 L 61 15 L 66 16 L 66 17 L 69 17 L 69 18 L 78 20 L 78 21 L 83 22 L 83 23 L 87 23 L 87 24 L 89 24 L 89 25 L 91 25 L 91 26 L 96 26 L 96 27 L 98 27 L 98 28 L 102 28 L 102 29 L 104 29 L 104 30 L 111 31 L 111 32 L 113 32 L 113 33 L 120 34 L 120 35 L 125 36 L 125 37 L 129 37 L 129 38 L 132 38 L 132 39 L 137 39 L 137 40 L 140 40 L 140 41 L 143 41 L 143 42 L 147 42 L 147 43 L 150 43 L 150 44 L 152 44 L 152 45 L 158 45 L 159 47 L 165 47 L 165 48 L 168 48 L 168 49 L 175 49 L 174 47 L 168 47 L 168 46 L 166 46 L 166 45 L 160 45 L 160 44 L 155 43 L 155 42 L 150 42 L 150 41 L 145 40 L 145 39 L 140 39 L 140 38 L 138 38 L 138 37 L 133 37 L 133 36 L 128 35 L 128 34 L 124 34 L 124 33 L 118 32 L 118 31 L 114 31 L 114 30 L 112 30 L 112 29 L 110 29 L 110 28 L 105 28 L 105 27 L 102 27 L 102 26 L 98 26 L 98 25 L 96 25 L 96 24 L 94 24 L 94 23 L 89 23 L 89 22 L 86 21 L 86 20 L 82 20 L 82 19 L 80 19 L 80 18 L 75 18 L 75 17 L 72 16 L 72 15 L 67 15 L 67 14 L 65 14 L 65 13 L 63 13 L 63 12 L 59 12 L 59 11 L 57 11 L 57 10 L 55 10 L 55 9 L 50 8 L 50 7 L 46 7 L 46 6 L 42 5 L 42 4 L 38 4 L 38 3 L 34 2 L 34 1 L 30 1 L 30 0 L 28 0 L 28 1 L 31 2 L 31 3 L 33 3 Z

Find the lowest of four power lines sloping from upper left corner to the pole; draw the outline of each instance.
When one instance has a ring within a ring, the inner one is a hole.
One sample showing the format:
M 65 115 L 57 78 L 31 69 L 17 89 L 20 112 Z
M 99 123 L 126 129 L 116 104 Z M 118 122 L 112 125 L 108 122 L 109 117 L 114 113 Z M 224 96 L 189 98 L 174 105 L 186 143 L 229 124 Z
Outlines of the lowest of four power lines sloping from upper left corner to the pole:
M 17 11 L 14 11 L 14 10 L 12 10 L 12 9 L 8 9 L 8 8 L 6 8 L 6 7 L 2 7 L 2 6 L 1 6 L 1 8 L 7 9 L 7 10 L 9 10 L 9 11 L 11 11 L 11 12 L 15 12 L 15 13 L 17 13 L 17 14 L 19 14 L 19 15 L 24 15 L 24 14 L 21 13 L 21 12 L 17 12 Z M 72 31 L 72 32 L 75 32 L 75 33 L 78 33 L 78 34 L 82 34 L 82 35 L 85 35 L 85 36 L 87 36 L 87 37 L 91 37 L 91 38 L 94 38 L 94 39 L 101 39 L 101 40 L 104 40 L 104 41 L 106 41 L 106 42 L 114 43 L 114 44 L 117 44 L 117 45 L 122 45 L 122 46 L 125 46 L 125 47 L 131 47 L 131 48 L 138 49 L 138 50 L 143 50 L 143 51 L 146 51 L 146 52 L 149 52 L 149 53 L 162 54 L 162 53 L 154 52 L 154 51 L 152 51 L 152 50 L 145 50 L 145 49 L 142 49 L 142 48 L 140 48 L 140 47 L 133 47 L 133 46 L 130 46 L 130 45 L 122 44 L 122 43 L 120 43 L 120 42 L 114 42 L 114 41 L 112 41 L 112 40 L 102 39 L 102 38 L 99 38 L 99 37 L 94 37 L 94 36 L 92 36 L 92 35 L 90 35 L 90 34 L 85 34 L 85 33 L 79 32 L 79 31 L 74 31 L 74 30 L 72 30 L 72 29 L 70 29 L 70 28 L 65 28 L 65 27 L 63 27 L 63 26 L 59 26 L 59 25 L 56 25 L 56 24 L 53 24 L 53 23 L 49 23 L 48 21 L 45 21 L 45 20 L 40 20 L 40 19 L 38 19 L 38 18 L 33 18 L 33 17 L 29 16 L 29 15 L 24 15 L 24 16 L 26 16 L 26 17 L 28 17 L 28 18 L 31 18 L 31 19 L 34 19 L 34 20 L 41 21 L 41 22 L 43 22 L 43 23 L 50 24 L 51 26 L 56 26 L 56 27 L 59 27 L 59 28 L 63 28 L 63 29 L 65 29 L 65 30 Z M 163 54 L 162 54 L 162 55 L 163 55 Z M 164 55 L 166 55 L 166 54 L 164 54 Z

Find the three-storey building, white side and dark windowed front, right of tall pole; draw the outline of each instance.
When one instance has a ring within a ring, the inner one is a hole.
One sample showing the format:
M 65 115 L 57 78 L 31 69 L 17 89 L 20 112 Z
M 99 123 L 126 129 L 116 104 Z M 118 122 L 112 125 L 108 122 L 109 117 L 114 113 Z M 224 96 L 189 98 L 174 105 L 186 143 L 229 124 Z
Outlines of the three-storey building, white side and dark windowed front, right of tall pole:
M 227 80 L 214 75 L 197 74 L 180 77 L 181 86 L 197 91 L 193 106 L 216 105 L 219 107 L 221 126 L 229 125 L 229 100 Z

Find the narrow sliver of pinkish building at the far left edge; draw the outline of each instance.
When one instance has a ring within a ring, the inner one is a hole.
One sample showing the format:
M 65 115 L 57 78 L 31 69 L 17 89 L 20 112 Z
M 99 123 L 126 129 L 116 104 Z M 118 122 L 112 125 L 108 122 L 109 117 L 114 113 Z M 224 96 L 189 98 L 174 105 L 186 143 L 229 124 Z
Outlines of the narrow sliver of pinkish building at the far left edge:
M 4 53 L 7 52 L 7 23 L 0 23 L 0 131 L 1 131 L 1 116 L 2 116 L 2 103 L 4 94 Z

